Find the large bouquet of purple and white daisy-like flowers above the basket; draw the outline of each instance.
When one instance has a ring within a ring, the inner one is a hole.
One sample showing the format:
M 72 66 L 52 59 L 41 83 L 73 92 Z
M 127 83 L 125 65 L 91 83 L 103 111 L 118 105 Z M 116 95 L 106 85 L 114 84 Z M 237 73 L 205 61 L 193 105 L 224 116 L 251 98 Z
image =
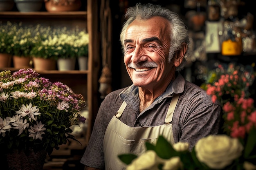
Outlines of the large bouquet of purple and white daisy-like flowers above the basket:
M 0 72 L 0 148 L 46 150 L 66 144 L 73 125 L 85 122 L 81 94 L 61 82 L 49 82 L 33 69 Z

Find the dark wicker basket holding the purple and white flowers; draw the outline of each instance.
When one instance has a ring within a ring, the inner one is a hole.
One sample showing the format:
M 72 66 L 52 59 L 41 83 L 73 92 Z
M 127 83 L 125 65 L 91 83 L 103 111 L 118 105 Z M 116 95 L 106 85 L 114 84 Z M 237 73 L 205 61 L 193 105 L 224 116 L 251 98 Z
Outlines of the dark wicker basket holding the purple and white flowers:
M 29 155 L 23 151 L 14 150 L 7 154 L 9 170 L 43 170 L 46 155 L 47 152 L 44 150 L 34 152 L 29 149 Z

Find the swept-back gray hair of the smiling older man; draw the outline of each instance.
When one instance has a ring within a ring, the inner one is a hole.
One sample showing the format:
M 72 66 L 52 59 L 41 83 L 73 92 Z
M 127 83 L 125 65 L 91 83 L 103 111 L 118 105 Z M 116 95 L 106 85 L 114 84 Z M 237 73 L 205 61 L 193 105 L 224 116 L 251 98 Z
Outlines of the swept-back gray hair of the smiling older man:
M 184 24 L 183 20 L 179 15 L 173 11 L 170 11 L 167 8 L 161 7 L 160 5 L 154 4 L 141 4 L 137 3 L 135 7 L 130 7 L 127 9 L 126 14 L 124 15 L 126 22 L 123 24 L 123 28 L 120 33 L 121 48 L 124 52 L 124 38 L 128 25 L 137 19 L 137 20 L 148 20 L 154 16 L 159 16 L 165 18 L 169 21 L 170 24 L 170 50 L 169 50 L 169 59 L 168 62 L 171 62 L 173 55 L 176 51 L 179 51 L 182 48 L 182 44 L 186 43 L 188 46 L 187 51 L 184 55 L 184 60 L 179 67 L 176 68 L 176 71 L 181 71 L 185 66 L 185 61 L 189 55 L 189 32 Z

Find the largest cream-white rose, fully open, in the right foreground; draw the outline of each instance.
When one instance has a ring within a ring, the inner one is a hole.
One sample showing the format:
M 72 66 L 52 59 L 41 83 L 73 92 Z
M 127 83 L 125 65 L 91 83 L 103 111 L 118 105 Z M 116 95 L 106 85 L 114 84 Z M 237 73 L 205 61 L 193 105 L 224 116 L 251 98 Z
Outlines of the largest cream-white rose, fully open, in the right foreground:
M 212 169 L 223 169 L 242 155 L 243 146 L 238 139 L 227 135 L 209 135 L 195 144 L 199 161 Z

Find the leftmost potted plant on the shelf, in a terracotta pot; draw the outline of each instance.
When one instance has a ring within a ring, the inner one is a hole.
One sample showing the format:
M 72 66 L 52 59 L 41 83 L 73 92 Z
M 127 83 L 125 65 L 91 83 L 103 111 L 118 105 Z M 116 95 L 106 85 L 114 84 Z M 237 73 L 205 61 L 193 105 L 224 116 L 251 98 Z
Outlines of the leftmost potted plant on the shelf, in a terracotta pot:
M 11 22 L 0 25 L 0 67 L 11 66 L 11 44 L 14 31 Z

